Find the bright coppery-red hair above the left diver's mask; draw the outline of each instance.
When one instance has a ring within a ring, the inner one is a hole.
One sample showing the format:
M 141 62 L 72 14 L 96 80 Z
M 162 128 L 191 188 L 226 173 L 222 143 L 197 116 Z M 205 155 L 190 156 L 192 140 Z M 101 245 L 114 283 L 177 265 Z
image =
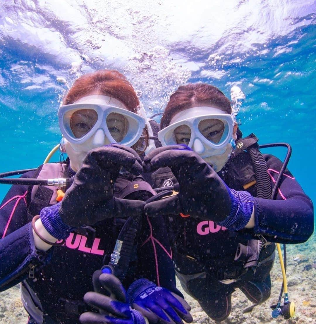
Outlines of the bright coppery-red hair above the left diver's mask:
M 72 104 L 97 90 L 122 101 L 128 110 L 137 112 L 139 100 L 134 88 L 123 74 L 115 70 L 99 70 L 80 76 L 68 90 L 63 105 Z

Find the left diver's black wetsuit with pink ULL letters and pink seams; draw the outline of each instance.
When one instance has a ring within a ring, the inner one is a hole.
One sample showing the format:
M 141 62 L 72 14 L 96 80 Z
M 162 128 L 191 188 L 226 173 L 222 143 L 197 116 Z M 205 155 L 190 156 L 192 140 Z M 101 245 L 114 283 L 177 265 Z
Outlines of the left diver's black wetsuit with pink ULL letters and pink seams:
M 74 174 L 69 167 L 66 171 L 68 177 Z M 28 172 L 23 178 L 33 174 Z M 115 192 L 120 191 L 120 184 L 118 179 Z M 0 289 L 24 280 L 22 300 L 37 322 L 44 314 L 44 323 L 79 323 L 83 295 L 93 290 L 93 272 L 109 262 L 122 219 L 105 219 L 83 232 L 71 233 L 64 246 L 38 251 L 27 214 L 28 190 L 27 185 L 12 186 L 0 205 Z M 144 216 L 125 288 L 138 278 L 147 278 L 181 295 L 170 252 L 163 219 Z

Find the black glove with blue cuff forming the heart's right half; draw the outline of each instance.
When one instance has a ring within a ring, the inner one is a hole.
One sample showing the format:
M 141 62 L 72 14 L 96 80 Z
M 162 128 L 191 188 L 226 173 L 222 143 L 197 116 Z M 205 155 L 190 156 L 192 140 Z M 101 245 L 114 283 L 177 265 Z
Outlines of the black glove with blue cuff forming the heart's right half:
M 145 156 L 145 172 L 170 167 L 179 182 L 179 193 L 146 204 L 145 214 L 189 214 L 211 220 L 231 230 L 249 222 L 253 198 L 247 191 L 229 189 L 217 173 L 186 145 L 162 146 Z

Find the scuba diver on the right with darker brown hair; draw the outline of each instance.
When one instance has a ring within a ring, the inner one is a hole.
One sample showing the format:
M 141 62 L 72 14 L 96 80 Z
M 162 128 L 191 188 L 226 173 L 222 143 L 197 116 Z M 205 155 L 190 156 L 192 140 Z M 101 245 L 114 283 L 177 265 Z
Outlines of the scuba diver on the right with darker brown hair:
M 230 314 L 237 288 L 254 304 L 267 300 L 274 242 L 305 242 L 314 228 L 310 198 L 278 158 L 261 154 L 254 134 L 242 138 L 231 112 L 214 86 L 179 87 L 162 115 L 163 146 L 143 161 L 154 189 L 175 190 L 153 197 L 145 214 L 164 215 L 181 286 L 216 321 Z

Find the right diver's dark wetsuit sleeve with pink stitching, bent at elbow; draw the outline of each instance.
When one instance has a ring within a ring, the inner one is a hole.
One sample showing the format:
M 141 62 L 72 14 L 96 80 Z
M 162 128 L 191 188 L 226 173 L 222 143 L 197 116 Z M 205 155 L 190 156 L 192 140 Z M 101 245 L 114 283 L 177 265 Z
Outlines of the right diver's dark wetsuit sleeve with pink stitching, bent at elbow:
M 265 155 L 273 188 L 282 167 L 275 156 Z M 313 203 L 293 175 L 286 170 L 276 200 L 254 198 L 255 234 L 278 243 L 305 242 L 314 230 Z

